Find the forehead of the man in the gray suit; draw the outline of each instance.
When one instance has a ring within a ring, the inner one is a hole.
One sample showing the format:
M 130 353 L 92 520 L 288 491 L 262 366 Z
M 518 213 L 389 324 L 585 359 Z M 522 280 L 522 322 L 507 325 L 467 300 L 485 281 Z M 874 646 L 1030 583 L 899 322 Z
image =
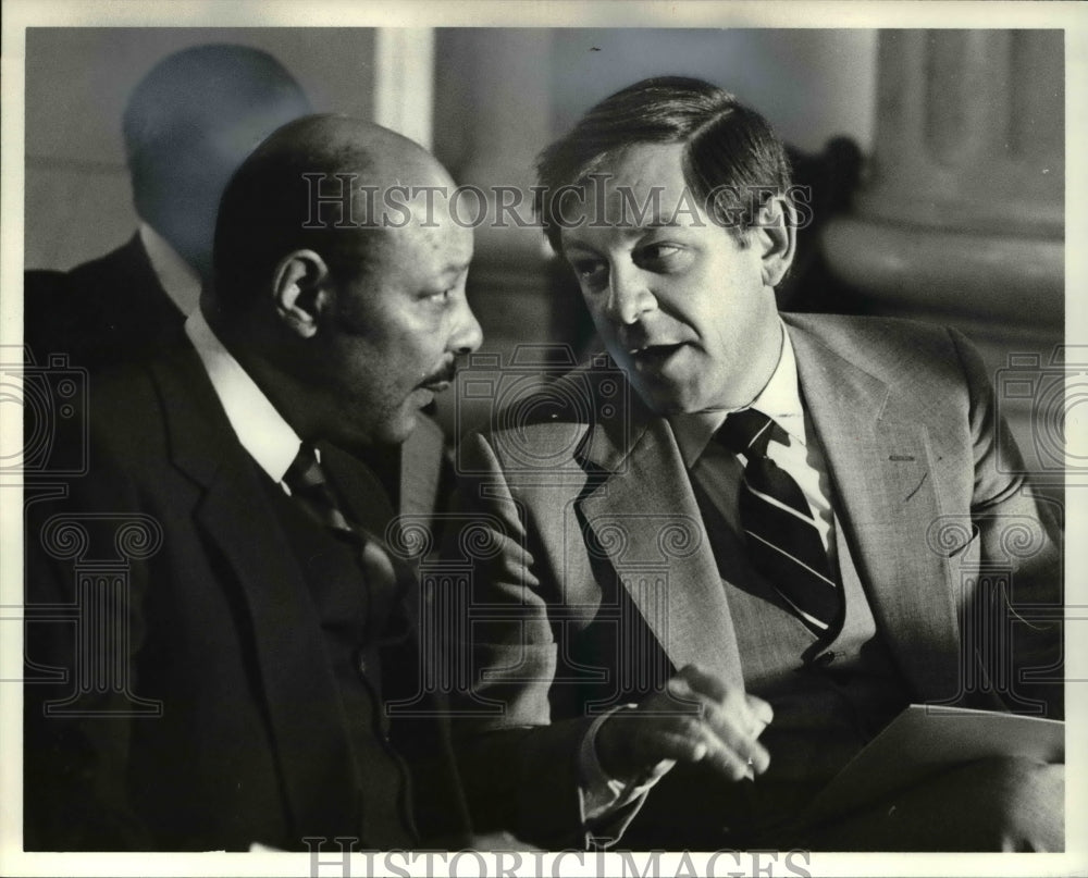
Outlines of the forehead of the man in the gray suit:
M 684 180 L 683 153 L 684 144 L 634 144 L 603 162 L 564 203 L 564 245 L 695 224 L 702 210 Z

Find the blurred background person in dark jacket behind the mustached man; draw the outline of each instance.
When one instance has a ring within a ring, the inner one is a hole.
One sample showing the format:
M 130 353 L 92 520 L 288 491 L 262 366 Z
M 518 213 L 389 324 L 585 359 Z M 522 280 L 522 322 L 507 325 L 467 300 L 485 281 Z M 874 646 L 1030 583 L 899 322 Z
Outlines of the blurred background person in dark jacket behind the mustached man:
M 310 112 L 290 73 L 248 46 L 194 46 L 148 71 L 121 125 L 136 233 L 66 273 L 27 272 L 25 338 L 37 361 L 67 354 L 96 371 L 181 343 L 211 276 L 226 182 L 268 135 Z

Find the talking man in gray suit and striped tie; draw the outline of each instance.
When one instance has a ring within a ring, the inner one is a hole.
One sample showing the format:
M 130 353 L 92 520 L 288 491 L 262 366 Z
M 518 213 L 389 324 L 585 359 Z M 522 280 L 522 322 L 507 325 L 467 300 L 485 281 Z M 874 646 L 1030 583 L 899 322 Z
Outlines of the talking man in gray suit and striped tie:
M 1031 758 L 811 807 L 911 703 L 1061 716 L 1060 532 L 977 355 L 778 312 L 789 165 L 721 89 L 631 86 L 540 177 L 609 359 L 461 452 L 478 818 L 551 846 L 1061 850 L 1064 769 Z

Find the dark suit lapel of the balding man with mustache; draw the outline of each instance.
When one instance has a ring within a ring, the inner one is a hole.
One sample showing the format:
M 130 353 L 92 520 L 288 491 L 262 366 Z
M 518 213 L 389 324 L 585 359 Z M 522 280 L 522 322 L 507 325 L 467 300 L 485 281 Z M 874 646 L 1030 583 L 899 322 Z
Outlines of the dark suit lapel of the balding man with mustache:
M 295 827 L 344 826 L 356 813 L 347 730 L 321 626 L 301 571 L 279 536 L 260 475 L 237 438 L 196 354 L 156 363 L 174 463 L 205 489 L 195 510 L 240 588 Z M 224 580 L 230 588 L 232 580 Z M 305 825 L 304 825 L 305 823 Z

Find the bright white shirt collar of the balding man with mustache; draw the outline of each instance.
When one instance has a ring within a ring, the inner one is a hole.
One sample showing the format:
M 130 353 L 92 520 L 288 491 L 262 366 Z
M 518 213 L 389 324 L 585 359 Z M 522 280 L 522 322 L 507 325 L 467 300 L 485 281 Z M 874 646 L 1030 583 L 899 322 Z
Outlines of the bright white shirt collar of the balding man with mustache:
M 298 434 L 223 347 L 199 308 L 185 321 L 185 333 L 200 356 L 242 447 L 272 481 L 283 481 L 301 444 Z

